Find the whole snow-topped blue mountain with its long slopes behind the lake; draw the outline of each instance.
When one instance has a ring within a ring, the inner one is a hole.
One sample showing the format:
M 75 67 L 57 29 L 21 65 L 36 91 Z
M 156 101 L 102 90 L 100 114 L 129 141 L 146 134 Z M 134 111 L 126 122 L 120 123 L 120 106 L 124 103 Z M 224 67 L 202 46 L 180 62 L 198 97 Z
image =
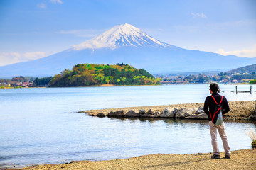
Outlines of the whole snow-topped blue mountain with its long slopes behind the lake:
M 256 63 L 256 58 L 218 55 L 213 52 L 186 50 L 152 38 L 130 24 L 110 30 L 73 45 L 68 50 L 28 62 L 0 67 L 0 77 L 48 77 L 75 64 L 130 64 L 151 74 L 168 72 L 228 71 Z

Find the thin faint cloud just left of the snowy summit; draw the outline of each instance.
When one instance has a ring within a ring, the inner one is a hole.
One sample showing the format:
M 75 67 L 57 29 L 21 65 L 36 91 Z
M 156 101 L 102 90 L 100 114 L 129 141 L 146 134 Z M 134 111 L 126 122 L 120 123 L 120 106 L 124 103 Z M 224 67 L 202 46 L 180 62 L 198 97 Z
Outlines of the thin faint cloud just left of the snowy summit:
M 105 30 L 60 30 L 58 33 L 60 34 L 73 34 L 76 37 L 84 37 L 84 38 L 93 38 L 100 33 L 104 32 Z

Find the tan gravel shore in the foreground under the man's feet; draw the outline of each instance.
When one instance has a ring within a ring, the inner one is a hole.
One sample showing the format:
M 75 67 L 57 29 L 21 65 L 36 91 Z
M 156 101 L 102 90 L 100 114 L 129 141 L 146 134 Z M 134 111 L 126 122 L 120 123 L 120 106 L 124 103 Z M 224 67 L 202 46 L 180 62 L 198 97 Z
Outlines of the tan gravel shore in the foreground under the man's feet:
M 33 165 L 28 169 L 256 169 L 256 149 L 231 152 L 230 159 L 210 159 L 212 153 L 198 154 L 150 154 L 129 159 L 109 161 L 79 161 L 66 164 Z

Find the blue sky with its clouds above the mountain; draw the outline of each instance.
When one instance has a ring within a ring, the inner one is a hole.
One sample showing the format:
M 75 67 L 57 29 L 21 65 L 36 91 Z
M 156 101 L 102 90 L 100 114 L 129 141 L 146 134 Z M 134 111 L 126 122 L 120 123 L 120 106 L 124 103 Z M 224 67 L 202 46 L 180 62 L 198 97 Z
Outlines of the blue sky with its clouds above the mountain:
M 122 23 L 178 47 L 256 57 L 255 0 L 0 0 L 0 66 L 52 55 Z

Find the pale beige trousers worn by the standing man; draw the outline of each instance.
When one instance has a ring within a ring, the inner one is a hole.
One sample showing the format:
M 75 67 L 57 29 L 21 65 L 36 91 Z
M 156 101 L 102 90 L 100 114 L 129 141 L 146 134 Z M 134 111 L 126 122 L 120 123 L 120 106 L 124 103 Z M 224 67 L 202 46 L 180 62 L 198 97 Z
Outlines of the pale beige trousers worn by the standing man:
M 209 121 L 209 126 L 210 126 L 210 137 L 212 139 L 212 145 L 213 145 L 213 153 L 216 155 L 220 155 L 220 151 L 218 149 L 218 142 L 217 142 L 217 130 L 218 130 L 221 140 L 223 141 L 225 154 L 230 155 L 231 154 L 230 147 L 228 145 L 228 137 L 225 132 L 224 123 L 222 125 L 215 125 L 212 121 Z

